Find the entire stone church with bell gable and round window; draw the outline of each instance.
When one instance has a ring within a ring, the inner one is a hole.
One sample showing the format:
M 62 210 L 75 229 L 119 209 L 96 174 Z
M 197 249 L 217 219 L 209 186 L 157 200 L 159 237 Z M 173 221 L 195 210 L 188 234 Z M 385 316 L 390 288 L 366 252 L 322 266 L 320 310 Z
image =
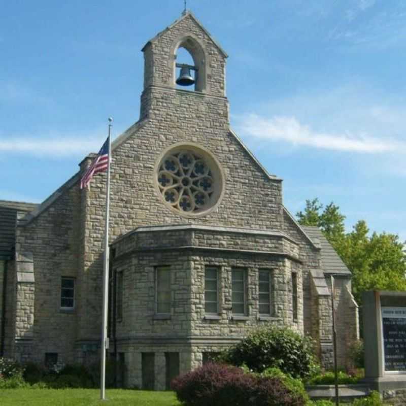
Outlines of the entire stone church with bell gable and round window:
M 184 88 L 180 48 L 193 60 Z M 270 324 L 311 335 L 331 365 L 330 275 L 345 365 L 351 273 L 230 128 L 226 52 L 190 12 L 142 51 L 140 118 L 112 143 L 109 353 L 125 386 L 165 389 Z M 0 201 L 0 355 L 99 357 L 106 174 L 80 189 L 94 156 L 40 205 Z

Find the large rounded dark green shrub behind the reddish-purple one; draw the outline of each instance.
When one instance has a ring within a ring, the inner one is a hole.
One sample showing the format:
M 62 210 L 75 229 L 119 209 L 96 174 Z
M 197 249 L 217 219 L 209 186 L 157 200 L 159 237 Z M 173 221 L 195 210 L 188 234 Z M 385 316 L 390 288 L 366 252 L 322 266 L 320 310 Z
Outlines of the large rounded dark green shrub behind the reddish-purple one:
M 311 339 L 277 327 L 255 330 L 223 352 L 219 359 L 236 366 L 245 363 L 259 373 L 266 368 L 277 367 L 294 378 L 311 376 L 318 368 Z

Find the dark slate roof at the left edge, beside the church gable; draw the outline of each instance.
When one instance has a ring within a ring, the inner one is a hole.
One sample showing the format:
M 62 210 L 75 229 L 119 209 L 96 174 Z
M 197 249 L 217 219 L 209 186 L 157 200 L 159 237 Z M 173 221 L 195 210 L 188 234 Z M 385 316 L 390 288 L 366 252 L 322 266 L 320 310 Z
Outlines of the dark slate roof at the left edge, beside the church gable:
M 0 200 L 0 256 L 10 256 L 15 244 L 17 212 L 30 212 L 38 205 L 22 201 Z

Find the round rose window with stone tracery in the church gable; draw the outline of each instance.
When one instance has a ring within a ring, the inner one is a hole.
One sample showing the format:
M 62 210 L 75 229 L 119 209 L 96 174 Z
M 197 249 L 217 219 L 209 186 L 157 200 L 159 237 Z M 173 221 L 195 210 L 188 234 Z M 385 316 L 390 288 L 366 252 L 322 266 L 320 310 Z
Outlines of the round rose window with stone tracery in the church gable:
M 155 173 L 164 203 L 179 214 L 207 214 L 220 202 L 224 184 L 220 164 L 201 147 L 172 146 L 161 155 Z

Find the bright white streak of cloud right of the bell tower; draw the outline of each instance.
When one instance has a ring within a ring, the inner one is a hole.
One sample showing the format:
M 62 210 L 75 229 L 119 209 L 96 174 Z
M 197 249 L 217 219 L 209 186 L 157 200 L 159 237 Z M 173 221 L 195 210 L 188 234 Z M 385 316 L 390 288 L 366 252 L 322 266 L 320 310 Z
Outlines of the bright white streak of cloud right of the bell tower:
M 295 146 L 318 149 L 382 153 L 404 150 L 405 145 L 396 140 L 369 137 L 366 134 L 318 132 L 300 123 L 294 116 L 261 117 L 248 114 L 240 118 L 239 130 L 243 134 L 267 141 L 282 141 Z

